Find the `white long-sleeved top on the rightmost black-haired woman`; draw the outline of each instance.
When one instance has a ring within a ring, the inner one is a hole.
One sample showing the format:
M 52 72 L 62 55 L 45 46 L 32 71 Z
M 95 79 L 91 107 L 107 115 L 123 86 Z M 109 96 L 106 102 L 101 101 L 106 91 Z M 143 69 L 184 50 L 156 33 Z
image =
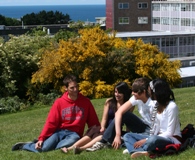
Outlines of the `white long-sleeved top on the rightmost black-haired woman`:
M 170 101 L 167 107 L 161 114 L 156 115 L 157 123 L 159 126 L 159 136 L 170 138 L 174 143 L 180 143 L 174 135 L 181 137 L 179 110 L 175 102 Z

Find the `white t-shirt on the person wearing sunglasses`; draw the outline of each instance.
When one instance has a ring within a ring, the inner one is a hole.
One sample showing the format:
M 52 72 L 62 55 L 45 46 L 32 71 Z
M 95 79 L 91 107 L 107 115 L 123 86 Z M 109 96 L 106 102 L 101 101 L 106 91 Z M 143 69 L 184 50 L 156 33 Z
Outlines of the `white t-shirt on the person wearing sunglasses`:
M 148 98 L 147 102 L 144 103 L 142 100 L 136 100 L 135 97 L 132 96 L 129 101 L 131 102 L 132 106 L 138 107 L 138 112 L 141 115 L 141 119 L 145 124 L 151 127 L 151 115 L 156 104 L 156 100 Z

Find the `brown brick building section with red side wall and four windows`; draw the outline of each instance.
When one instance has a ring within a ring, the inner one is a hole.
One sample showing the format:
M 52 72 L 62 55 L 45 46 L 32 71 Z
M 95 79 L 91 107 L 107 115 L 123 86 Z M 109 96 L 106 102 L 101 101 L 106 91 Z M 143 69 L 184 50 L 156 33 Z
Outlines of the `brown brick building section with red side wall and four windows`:
M 151 31 L 151 0 L 106 0 L 106 29 Z

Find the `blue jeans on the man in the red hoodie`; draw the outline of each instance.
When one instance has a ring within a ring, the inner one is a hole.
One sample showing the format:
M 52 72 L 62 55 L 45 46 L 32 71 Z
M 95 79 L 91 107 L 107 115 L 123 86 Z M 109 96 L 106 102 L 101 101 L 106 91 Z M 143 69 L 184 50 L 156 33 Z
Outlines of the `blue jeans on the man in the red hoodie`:
M 22 149 L 31 152 L 47 152 L 62 147 L 70 147 L 79 139 L 80 136 L 76 132 L 59 130 L 43 142 L 40 150 L 35 149 L 35 143 L 27 143 Z

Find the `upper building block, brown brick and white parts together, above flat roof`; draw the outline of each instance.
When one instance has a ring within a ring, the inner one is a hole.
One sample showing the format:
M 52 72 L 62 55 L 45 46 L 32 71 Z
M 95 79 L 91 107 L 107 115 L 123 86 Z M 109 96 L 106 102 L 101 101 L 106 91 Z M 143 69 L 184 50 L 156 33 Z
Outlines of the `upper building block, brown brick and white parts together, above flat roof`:
M 106 0 L 106 28 L 118 32 L 195 30 L 195 0 Z

